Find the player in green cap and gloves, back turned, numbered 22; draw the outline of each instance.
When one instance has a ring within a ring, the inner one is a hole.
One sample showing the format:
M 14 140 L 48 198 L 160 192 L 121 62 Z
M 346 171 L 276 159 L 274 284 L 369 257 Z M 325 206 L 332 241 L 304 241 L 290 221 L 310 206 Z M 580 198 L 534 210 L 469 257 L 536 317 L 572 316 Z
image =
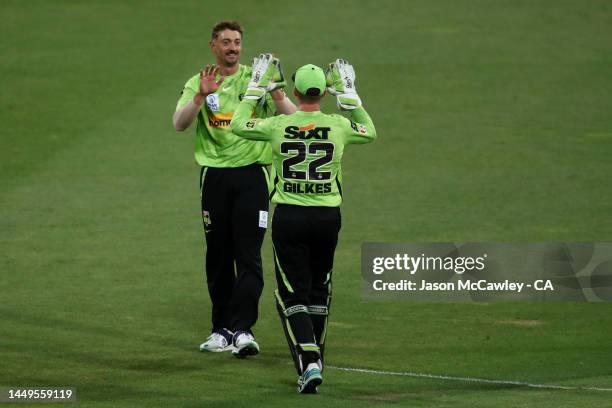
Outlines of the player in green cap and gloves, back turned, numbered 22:
M 251 93 L 263 97 L 275 64 L 278 61 L 271 56 L 256 61 L 251 83 L 260 91 Z M 361 106 L 353 67 L 345 60 L 330 64 L 327 74 L 315 65 L 305 65 L 293 78 L 297 112 L 252 118 L 258 100 L 245 98 L 231 128 L 238 136 L 266 141 L 272 147 L 277 309 L 298 373 L 298 391 L 316 393 L 323 381 L 332 269 L 340 231 L 344 147 L 373 141 L 376 130 Z M 351 120 L 320 111 L 326 86 Z

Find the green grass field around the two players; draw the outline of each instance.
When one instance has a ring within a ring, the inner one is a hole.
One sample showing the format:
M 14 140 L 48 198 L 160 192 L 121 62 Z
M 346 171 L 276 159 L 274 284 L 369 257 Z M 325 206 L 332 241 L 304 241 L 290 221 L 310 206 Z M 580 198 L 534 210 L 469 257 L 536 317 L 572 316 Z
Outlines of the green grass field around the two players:
M 83 407 L 612 407 L 609 391 L 331 368 L 297 395 L 269 234 L 262 353 L 197 351 L 195 132 L 171 115 L 225 18 L 244 62 L 349 59 L 377 126 L 345 155 L 329 364 L 612 388 L 610 304 L 366 302 L 359 264 L 364 241 L 612 240 L 606 0 L 3 0 L 0 386 L 74 386 Z

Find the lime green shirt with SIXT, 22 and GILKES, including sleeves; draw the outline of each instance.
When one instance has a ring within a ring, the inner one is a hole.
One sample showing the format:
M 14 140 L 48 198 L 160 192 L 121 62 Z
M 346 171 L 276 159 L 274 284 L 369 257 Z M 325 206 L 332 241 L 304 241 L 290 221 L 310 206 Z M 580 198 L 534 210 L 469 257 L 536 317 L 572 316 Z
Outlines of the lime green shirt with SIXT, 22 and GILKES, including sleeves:
M 365 109 L 349 111 L 352 120 L 320 111 L 252 119 L 255 107 L 255 101 L 242 101 L 231 127 L 241 137 L 267 141 L 272 147 L 272 202 L 338 207 L 342 203 L 344 146 L 376 138 Z

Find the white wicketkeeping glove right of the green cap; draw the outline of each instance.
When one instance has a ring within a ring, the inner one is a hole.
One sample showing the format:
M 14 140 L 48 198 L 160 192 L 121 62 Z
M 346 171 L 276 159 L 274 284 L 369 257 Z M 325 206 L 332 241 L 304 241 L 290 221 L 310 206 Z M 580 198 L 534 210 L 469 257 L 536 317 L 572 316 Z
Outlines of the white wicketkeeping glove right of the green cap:
M 355 70 L 347 60 L 338 58 L 325 71 L 327 91 L 336 96 L 338 108 L 355 109 L 361 106 L 361 98 L 355 87 Z

